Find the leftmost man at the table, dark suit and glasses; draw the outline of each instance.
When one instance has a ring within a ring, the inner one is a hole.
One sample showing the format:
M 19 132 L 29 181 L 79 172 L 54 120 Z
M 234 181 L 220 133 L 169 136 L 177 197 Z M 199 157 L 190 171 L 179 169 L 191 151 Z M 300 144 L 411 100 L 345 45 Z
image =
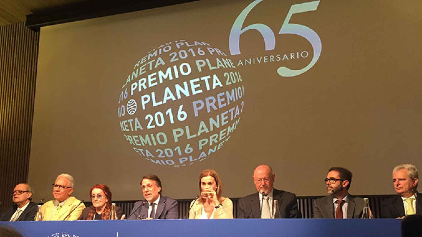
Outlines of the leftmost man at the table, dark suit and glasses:
M 14 205 L 5 210 L 0 221 L 33 221 L 37 213 L 37 204 L 31 200 L 31 187 L 28 184 L 16 185 L 13 189 Z

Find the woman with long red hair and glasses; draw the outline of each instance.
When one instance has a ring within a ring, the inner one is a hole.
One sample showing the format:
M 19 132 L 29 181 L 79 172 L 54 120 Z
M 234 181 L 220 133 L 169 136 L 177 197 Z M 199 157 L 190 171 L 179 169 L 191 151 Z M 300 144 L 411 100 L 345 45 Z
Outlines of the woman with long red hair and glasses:
M 109 220 L 111 216 L 111 191 L 107 185 L 95 184 L 89 191 L 92 206 L 82 211 L 78 220 Z M 124 219 L 122 208 L 116 206 L 117 219 Z

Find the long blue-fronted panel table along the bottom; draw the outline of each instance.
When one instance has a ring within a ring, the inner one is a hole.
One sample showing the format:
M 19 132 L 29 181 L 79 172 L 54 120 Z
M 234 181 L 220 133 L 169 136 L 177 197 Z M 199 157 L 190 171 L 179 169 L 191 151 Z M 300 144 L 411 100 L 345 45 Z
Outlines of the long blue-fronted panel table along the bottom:
M 230 219 L 0 222 L 24 237 L 304 236 L 400 237 L 396 219 Z

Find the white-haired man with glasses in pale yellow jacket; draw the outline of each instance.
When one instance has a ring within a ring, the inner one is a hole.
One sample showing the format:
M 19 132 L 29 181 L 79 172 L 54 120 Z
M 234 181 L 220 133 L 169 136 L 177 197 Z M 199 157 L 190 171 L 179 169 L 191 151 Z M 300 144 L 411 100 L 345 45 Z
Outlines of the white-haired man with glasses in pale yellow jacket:
M 41 207 L 43 221 L 76 221 L 81 216 L 85 205 L 75 197 L 71 197 L 75 181 L 69 174 L 57 176 L 53 184 L 54 200 Z

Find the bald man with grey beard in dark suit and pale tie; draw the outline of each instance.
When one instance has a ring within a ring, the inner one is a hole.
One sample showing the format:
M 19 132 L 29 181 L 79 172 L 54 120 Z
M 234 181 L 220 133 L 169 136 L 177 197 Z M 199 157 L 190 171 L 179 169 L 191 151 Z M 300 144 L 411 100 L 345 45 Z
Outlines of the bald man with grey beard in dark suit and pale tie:
M 252 178 L 258 192 L 242 197 L 238 201 L 237 218 L 302 218 L 296 195 L 273 188 L 275 174 L 270 166 L 257 166 Z M 279 213 L 273 210 L 275 200 Z

